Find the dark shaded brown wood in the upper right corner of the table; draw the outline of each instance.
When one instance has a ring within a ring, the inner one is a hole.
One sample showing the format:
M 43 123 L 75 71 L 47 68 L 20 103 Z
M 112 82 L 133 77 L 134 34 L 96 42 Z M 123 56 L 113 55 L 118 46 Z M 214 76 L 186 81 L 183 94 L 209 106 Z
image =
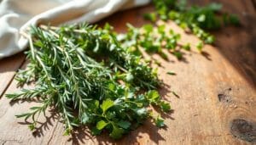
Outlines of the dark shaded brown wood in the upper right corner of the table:
M 243 78 L 256 89 L 256 14 L 255 1 L 224 1 L 223 12 L 236 14 L 241 22 L 240 27 L 224 27 L 211 33 L 216 37 L 218 52 L 236 68 Z M 190 0 L 189 3 L 206 5 L 206 0 Z

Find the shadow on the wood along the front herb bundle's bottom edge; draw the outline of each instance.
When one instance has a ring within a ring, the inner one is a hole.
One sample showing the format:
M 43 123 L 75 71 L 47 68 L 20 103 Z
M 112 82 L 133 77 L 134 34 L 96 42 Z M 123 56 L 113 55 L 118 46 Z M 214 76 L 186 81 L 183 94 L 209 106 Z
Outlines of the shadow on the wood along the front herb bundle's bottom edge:
M 163 128 L 163 130 L 166 130 L 166 128 Z M 108 131 L 103 131 L 99 136 L 91 137 L 88 128 L 80 127 L 73 132 L 72 137 L 68 142 L 72 142 L 73 144 L 84 144 L 90 140 L 96 141 L 98 144 L 139 144 L 146 143 L 150 140 L 150 142 L 159 144 L 160 141 L 165 141 L 165 138 L 160 135 L 159 131 L 160 128 L 155 126 L 149 120 L 146 120 L 143 125 L 139 126 L 135 131 L 125 134 L 119 140 L 113 140 L 108 136 Z

